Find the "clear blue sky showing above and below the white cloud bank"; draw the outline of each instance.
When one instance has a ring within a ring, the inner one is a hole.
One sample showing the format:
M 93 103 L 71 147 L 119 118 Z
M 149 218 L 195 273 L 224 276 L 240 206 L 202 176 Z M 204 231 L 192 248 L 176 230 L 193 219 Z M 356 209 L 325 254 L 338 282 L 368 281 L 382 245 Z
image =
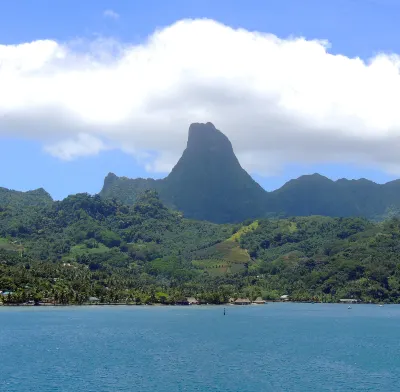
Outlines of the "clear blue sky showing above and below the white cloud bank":
M 113 10 L 119 17 L 104 16 L 106 10 Z M 180 19 L 210 18 L 281 38 L 327 39 L 332 44 L 330 53 L 368 59 L 380 52 L 400 53 L 398 15 L 400 2 L 396 0 L 13 0 L 0 4 L 0 45 L 96 37 L 138 44 L 155 29 Z M 108 172 L 132 178 L 165 175 L 146 172 L 137 159 L 119 149 L 65 161 L 48 154 L 42 141 L 10 133 L 0 133 L 0 186 L 7 188 L 44 187 L 59 199 L 77 192 L 100 191 Z M 397 177 L 374 164 L 348 162 L 291 162 L 279 175 L 254 177 L 270 190 L 290 178 L 313 172 L 331 178 L 366 177 L 377 182 Z

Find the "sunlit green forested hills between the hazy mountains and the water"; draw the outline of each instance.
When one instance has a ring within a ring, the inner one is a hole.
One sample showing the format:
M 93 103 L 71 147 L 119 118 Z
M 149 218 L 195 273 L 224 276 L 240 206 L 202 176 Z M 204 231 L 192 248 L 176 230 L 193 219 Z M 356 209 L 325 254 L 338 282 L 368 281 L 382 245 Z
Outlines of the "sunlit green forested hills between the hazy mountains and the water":
M 20 195 L 18 195 L 20 197 Z M 193 221 L 155 191 L 133 205 L 78 194 L 0 204 L 6 303 L 176 303 L 288 294 L 400 302 L 400 220 L 322 216 Z

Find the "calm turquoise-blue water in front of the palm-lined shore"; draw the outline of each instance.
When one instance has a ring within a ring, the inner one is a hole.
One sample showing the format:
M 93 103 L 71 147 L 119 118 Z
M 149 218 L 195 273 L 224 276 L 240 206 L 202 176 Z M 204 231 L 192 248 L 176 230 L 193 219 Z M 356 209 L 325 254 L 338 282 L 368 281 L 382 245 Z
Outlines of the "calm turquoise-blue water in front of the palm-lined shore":
M 397 391 L 400 306 L 0 308 L 1 392 Z

